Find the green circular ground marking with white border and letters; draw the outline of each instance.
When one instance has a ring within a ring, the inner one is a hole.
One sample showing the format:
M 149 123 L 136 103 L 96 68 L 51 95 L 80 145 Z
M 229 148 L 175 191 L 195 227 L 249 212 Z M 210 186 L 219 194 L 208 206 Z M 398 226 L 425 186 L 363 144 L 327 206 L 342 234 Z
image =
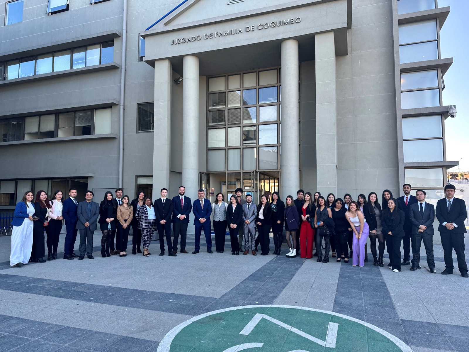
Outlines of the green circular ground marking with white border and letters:
M 384 318 L 385 319 L 385 318 Z M 385 330 L 347 315 L 295 306 L 239 306 L 171 329 L 157 352 L 412 352 Z

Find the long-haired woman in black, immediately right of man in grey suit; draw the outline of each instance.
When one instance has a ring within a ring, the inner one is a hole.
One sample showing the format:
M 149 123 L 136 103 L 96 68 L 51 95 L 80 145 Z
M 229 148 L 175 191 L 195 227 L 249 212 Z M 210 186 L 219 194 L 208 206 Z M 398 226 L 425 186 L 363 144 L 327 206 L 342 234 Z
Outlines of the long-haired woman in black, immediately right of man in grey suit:
M 103 233 L 101 237 L 101 257 L 110 257 L 109 240 L 113 238 L 116 231 L 117 202 L 113 202 L 113 194 L 107 191 L 104 200 L 99 204 L 100 230 Z

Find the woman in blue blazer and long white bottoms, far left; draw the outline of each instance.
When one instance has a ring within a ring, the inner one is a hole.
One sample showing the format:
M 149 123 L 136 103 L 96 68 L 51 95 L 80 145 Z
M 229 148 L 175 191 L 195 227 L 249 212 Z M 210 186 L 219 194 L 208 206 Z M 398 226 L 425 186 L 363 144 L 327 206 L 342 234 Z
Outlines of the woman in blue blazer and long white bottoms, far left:
M 27 191 L 21 202 L 15 207 L 15 218 L 11 222 L 13 230 L 11 232 L 10 266 L 12 267 L 16 265 L 21 268 L 23 264 L 28 264 L 31 256 L 34 221 L 33 198 L 34 194 Z

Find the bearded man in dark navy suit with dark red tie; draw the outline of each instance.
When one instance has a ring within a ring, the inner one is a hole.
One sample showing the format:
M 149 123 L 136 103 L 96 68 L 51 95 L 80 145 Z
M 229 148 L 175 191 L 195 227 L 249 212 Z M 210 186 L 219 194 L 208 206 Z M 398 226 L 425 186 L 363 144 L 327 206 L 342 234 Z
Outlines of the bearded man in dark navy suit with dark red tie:
M 192 211 L 192 203 L 189 197 L 184 196 L 186 187 L 179 187 L 179 195 L 173 198 L 173 253 L 177 253 L 177 243 L 181 235 L 181 253 L 186 251 L 187 225 L 189 224 L 189 214 Z

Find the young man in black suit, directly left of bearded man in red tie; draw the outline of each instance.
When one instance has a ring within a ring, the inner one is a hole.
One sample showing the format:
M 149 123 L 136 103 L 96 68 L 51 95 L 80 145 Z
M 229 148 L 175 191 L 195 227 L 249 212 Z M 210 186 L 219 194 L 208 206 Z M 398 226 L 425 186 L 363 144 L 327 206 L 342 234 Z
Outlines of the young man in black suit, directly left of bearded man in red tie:
M 153 202 L 155 207 L 155 224 L 158 229 L 159 235 L 159 248 L 161 253 L 159 256 L 165 255 L 165 234 L 166 234 L 166 245 L 168 246 L 168 255 L 171 257 L 177 257 L 177 254 L 173 253 L 173 242 L 171 241 L 171 214 L 173 214 L 173 202 L 166 198 L 168 190 L 162 188 L 161 198 L 156 199 Z M 164 234 L 164 233 L 165 234 Z

